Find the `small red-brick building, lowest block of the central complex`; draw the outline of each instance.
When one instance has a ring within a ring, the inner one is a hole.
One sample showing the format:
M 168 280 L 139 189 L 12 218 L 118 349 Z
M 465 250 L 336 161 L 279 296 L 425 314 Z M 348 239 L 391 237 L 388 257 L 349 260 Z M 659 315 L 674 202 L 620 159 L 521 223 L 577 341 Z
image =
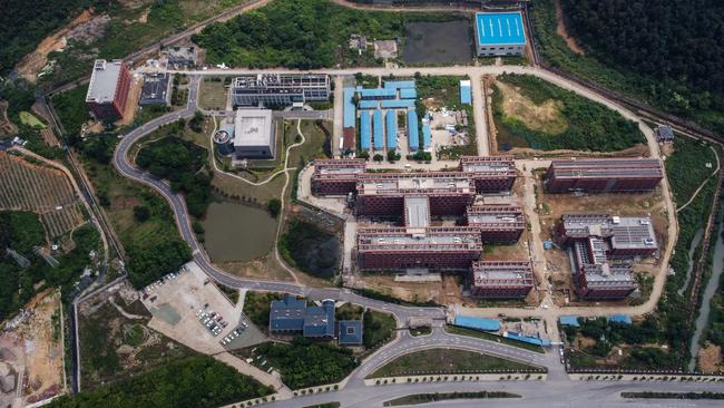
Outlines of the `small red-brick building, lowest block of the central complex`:
M 473 262 L 470 293 L 480 298 L 520 299 L 534 288 L 530 261 Z

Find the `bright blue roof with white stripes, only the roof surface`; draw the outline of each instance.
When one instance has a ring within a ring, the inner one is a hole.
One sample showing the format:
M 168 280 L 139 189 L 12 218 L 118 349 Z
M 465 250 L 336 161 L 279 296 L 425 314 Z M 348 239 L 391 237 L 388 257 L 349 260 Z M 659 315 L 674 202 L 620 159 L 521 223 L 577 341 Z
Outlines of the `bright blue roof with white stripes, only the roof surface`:
M 520 11 L 476 13 L 476 30 L 481 46 L 526 43 L 526 27 Z

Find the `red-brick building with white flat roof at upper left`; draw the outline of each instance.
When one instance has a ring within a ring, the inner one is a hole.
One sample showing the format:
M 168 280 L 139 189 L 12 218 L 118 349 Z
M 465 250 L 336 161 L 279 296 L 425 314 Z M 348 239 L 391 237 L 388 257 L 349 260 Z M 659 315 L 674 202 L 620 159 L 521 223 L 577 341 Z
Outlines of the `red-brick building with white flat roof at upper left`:
M 124 117 L 129 90 L 130 74 L 121 60 L 108 62 L 97 59 L 90 75 L 86 104 L 96 119 L 116 122 Z

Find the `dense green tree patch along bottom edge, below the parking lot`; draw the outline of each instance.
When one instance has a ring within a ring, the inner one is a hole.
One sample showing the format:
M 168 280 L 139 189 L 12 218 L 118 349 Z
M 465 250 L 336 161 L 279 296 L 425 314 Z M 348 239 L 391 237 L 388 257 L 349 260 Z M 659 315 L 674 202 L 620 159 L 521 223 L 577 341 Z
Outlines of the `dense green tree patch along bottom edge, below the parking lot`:
M 63 396 L 50 408 L 218 407 L 263 397 L 271 390 L 207 356 L 190 357 L 102 387 Z

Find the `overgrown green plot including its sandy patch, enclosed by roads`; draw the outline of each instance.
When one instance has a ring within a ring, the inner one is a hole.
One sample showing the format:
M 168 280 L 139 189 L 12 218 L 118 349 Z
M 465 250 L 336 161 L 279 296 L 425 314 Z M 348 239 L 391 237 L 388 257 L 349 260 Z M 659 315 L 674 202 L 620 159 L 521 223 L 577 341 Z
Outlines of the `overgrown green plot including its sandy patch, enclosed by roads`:
M 646 143 L 619 113 L 540 78 L 506 74 L 489 85 L 499 152 L 620 152 Z

